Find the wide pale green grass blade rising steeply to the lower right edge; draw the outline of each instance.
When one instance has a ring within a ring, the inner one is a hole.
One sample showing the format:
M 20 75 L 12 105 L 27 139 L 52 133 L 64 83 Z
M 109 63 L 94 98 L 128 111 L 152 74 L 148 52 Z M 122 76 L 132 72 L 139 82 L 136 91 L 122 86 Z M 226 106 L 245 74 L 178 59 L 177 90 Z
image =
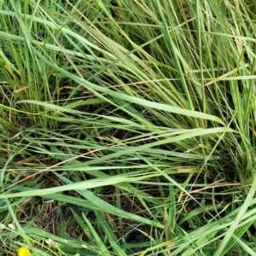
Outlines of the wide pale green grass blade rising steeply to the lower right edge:
M 224 255 L 228 242 L 230 241 L 233 234 L 235 233 L 236 228 L 237 228 L 238 224 L 241 221 L 241 218 L 247 212 L 247 208 L 249 207 L 250 202 L 253 200 L 253 197 L 254 197 L 255 192 L 256 192 L 256 174 L 253 174 L 253 176 L 254 176 L 253 177 L 253 183 L 252 183 L 252 186 L 251 186 L 251 189 L 250 189 L 249 193 L 247 194 L 247 198 L 244 201 L 240 211 L 236 215 L 234 223 L 230 226 L 230 229 L 227 231 L 226 235 L 224 236 L 224 239 L 220 242 L 218 250 L 217 250 L 216 253 L 214 253 L 214 256 Z

